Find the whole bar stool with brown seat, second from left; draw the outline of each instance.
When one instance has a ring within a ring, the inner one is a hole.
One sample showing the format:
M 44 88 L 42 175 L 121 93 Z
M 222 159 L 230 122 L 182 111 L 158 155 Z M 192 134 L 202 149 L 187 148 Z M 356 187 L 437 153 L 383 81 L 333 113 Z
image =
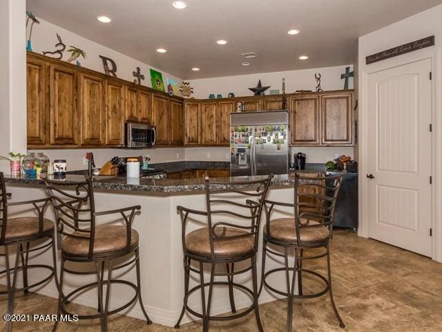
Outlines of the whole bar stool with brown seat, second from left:
M 118 313 L 131 306 L 138 299 L 147 324 L 152 324 L 149 319 L 141 295 L 140 284 L 140 251 L 138 248 L 139 235 L 132 229 L 135 212 L 140 210 L 140 205 L 110 211 L 96 212 L 93 193 L 93 178 L 86 177 L 85 181 L 56 181 L 44 178 L 46 188 L 55 212 L 57 237 L 61 249 L 60 286 L 58 299 L 58 314 L 74 315 L 68 311 L 66 304 L 75 295 L 97 288 L 98 311 L 92 315 L 78 315 L 81 319 L 101 319 L 101 331 L 107 331 L 107 317 Z M 121 214 L 123 225 L 97 225 L 97 216 Z M 119 266 L 114 266 L 113 261 L 131 255 L 130 261 Z M 66 268 L 66 262 L 95 264 L 95 270 L 73 270 Z M 119 268 L 135 264 L 137 284 L 122 279 L 112 279 L 112 273 Z M 107 279 L 104 279 L 104 270 Z M 97 282 L 91 282 L 76 288 L 67 295 L 63 293 L 64 273 L 73 275 L 97 275 Z M 106 296 L 104 297 L 104 284 Z M 111 284 L 128 286 L 135 295 L 126 304 L 109 310 L 109 293 Z M 55 323 L 53 331 L 57 328 Z

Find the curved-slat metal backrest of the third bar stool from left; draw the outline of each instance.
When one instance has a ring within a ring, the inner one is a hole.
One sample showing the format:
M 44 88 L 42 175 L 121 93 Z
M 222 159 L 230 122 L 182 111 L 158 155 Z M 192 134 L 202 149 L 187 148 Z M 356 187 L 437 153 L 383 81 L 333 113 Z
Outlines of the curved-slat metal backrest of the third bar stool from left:
M 209 178 L 206 178 L 206 209 L 212 257 L 215 257 L 213 243 L 216 241 L 253 236 L 255 239 L 255 249 L 258 248 L 258 232 L 262 208 L 272 178 L 273 174 L 270 174 L 256 181 L 236 181 L 231 183 L 212 182 Z M 220 187 L 222 189 L 219 189 Z M 233 197 L 229 197 L 230 194 Z M 233 199 L 238 198 L 244 201 L 233 201 Z M 215 221 L 216 216 L 220 215 L 232 217 L 236 222 Z M 242 221 L 244 221 L 244 224 L 241 223 Z M 226 234 L 226 227 L 242 230 L 245 233 L 229 236 Z

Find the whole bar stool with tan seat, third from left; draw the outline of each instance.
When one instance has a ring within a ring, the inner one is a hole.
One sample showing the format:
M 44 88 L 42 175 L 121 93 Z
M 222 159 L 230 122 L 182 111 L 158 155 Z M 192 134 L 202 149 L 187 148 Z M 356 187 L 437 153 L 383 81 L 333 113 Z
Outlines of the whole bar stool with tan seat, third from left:
M 177 206 L 182 220 L 182 248 L 184 250 L 184 304 L 175 329 L 180 328 L 180 322 L 185 311 L 200 317 L 203 321 L 202 331 L 209 331 L 210 320 L 234 320 L 255 311 L 258 330 L 262 325 L 258 310 L 258 282 L 256 272 L 256 251 L 262 207 L 273 175 L 258 181 L 236 183 L 205 181 L 206 211 L 191 210 Z M 224 187 L 227 189 L 220 189 Z M 239 188 L 239 189 L 237 189 Z M 228 196 L 227 196 L 228 195 Z M 232 201 L 232 195 L 241 201 Z M 242 201 L 244 200 L 244 201 Z M 207 227 L 186 234 L 189 216 L 203 216 L 207 219 Z M 222 219 L 224 217 L 224 219 Z M 233 220 L 232 220 L 233 219 Z M 226 221 L 227 220 L 227 221 Z M 250 266 L 235 270 L 235 264 L 250 259 Z M 198 267 L 192 266 L 192 261 Z M 203 264 L 210 264 L 209 282 L 204 282 Z M 226 266 L 226 272 L 215 272 L 219 264 Z M 253 290 L 242 284 L 233 282 L 233 276 L 251 270 Z M 189 289 L 190 273 L 200 276 L 200 284 Z M 215 276 L 227 277 L 227 282 L 214 281 Z M 229 288 L 229 299 L 233 315 L 215 317 L 210 315 L 213 286 L 222 285 Z M 205 288 L 209 287 L 206 303 Z M 248 293 L 253 303 L 242 313 L 236 313 L 233 288 L 239 288 Z M 188 305 L 189 296 L 195 291 L 201 292 L 202 313 L 196 312 Z

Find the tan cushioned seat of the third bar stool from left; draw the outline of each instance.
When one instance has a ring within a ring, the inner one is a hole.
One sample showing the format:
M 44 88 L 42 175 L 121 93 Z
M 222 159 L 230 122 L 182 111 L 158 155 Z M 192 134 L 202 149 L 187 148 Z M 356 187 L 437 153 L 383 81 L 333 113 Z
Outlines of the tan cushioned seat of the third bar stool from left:
M 221 232 L 221 229 L 216 230 Z M 237 228 L 226 228 L 226 237 L 249 234 L 244 230 L 238 230 Z M 242 237 L 240 239 L 226 239 L 213 241 L 213 251 L 216 256 L 233 256 L 233 255 L 245 255 L 255 246 L 255 239 L 253 235 L 248 237 Z M 210 241 L 209 241 L 209 228 L 200 228 L 194 230 L 186 235 L 186 248 L 190 252 L 196 255 L 210 256 Z

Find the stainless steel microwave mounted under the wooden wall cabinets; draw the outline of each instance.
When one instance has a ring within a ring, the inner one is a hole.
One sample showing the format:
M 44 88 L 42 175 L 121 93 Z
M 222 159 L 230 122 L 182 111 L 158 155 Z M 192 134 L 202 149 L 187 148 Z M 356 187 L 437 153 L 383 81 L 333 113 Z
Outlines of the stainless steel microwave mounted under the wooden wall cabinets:
M 124 124 L 124 146 L 151 149 L 155 147 L 155 126 L 140 122 Z

